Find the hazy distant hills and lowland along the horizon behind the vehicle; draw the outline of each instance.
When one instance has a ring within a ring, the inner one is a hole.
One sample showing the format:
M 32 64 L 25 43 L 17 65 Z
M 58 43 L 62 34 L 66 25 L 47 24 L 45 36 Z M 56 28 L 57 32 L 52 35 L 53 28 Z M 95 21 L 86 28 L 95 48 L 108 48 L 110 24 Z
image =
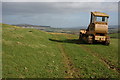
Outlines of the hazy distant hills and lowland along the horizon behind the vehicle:
M 38 30 L 43 30 L 46 32 L 57 32 L 57 33 L 70 33 L 70 34 L 79 34 L 80 29 L 87 29 L 88 26 L 74 26 L 67 28 L 53 28 L 51 26 L 43 26 L 43 25 L 31 25 L 31 24 L 13 24 L 14 26 L 19 26 L 23 28 L 34 28 Z M 109 33 L 117 33 L 120 32 L 117 25 L 109 25 Z

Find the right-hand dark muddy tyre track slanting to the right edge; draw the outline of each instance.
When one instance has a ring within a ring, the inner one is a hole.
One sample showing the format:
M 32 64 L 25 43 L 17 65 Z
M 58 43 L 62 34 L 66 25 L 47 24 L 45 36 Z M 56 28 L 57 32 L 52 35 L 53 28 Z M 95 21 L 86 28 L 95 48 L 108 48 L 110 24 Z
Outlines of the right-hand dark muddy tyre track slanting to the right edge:
M 104 57 L 100 56 L 98 53 L 92 51 L 87 46 L 80 45 L 80 48 L 82 48 L 83 50 L 87 51 L 88 53 L 90 53 L 94 57 L 97 57 L 99 59 L 99 61 L 101 61 L 102 63 L 104 63 L 109 69 L 112 69 L 112 70 L 114 70 L 117 73 L 120 73 L 120 70 L 115 65 L 111 64 L 107 59 L 105 59 Z

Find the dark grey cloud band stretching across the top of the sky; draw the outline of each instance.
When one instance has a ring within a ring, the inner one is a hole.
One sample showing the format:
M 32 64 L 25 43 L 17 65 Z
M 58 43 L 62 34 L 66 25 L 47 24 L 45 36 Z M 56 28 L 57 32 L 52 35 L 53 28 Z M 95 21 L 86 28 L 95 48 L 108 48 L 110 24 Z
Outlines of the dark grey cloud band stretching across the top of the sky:
M 117 3 L 103 2 L 3 2 L 3 15 L 73 14 L 116 11 Z

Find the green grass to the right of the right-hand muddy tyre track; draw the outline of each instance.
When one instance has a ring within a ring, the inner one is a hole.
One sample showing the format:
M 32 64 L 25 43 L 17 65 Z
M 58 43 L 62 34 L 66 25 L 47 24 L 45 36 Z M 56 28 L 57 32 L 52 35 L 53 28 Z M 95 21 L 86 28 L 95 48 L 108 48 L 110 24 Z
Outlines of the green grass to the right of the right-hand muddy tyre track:
M 88 45 L 94 53 L 108 60 L 111 64 L 118 66 L 118 39 L 111 39 L 109 46 Z

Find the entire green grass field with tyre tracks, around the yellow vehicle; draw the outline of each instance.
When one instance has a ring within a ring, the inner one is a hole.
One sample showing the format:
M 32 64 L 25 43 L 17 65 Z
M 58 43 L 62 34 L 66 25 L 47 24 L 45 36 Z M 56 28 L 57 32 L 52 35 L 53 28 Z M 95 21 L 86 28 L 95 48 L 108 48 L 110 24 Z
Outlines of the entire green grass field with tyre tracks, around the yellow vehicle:
M 2 28 L 3 78 L 118 77 L 117 38 L 109 46 L 89 45 L 72 34 Z

